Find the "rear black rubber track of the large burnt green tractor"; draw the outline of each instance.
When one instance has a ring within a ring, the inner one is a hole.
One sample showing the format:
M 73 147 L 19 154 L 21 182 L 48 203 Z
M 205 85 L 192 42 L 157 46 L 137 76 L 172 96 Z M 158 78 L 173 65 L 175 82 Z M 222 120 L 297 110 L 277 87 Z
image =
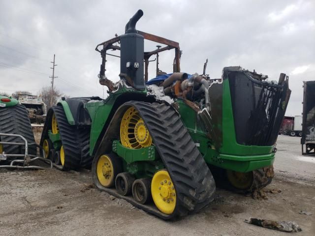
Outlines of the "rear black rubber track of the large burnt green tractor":
M 40 145 L 42 146 L 43 141 L 48 138 L 48 130 L 51 130 L 51 120 L 53 114 L 55 114 L 57 119 L 60 137 L 65 153 L 65 163 L 63 170 L 75 170 L 80 167 L 91 166 L 92 158 L 86 151 L 86 146 L 89 146 L 90 140 L 90 126 L 78 127 L 76 125 L 70 125 L 67 121 L 62 106 L 53 106 L 49 109 L 47 118 L 45 120 Z

